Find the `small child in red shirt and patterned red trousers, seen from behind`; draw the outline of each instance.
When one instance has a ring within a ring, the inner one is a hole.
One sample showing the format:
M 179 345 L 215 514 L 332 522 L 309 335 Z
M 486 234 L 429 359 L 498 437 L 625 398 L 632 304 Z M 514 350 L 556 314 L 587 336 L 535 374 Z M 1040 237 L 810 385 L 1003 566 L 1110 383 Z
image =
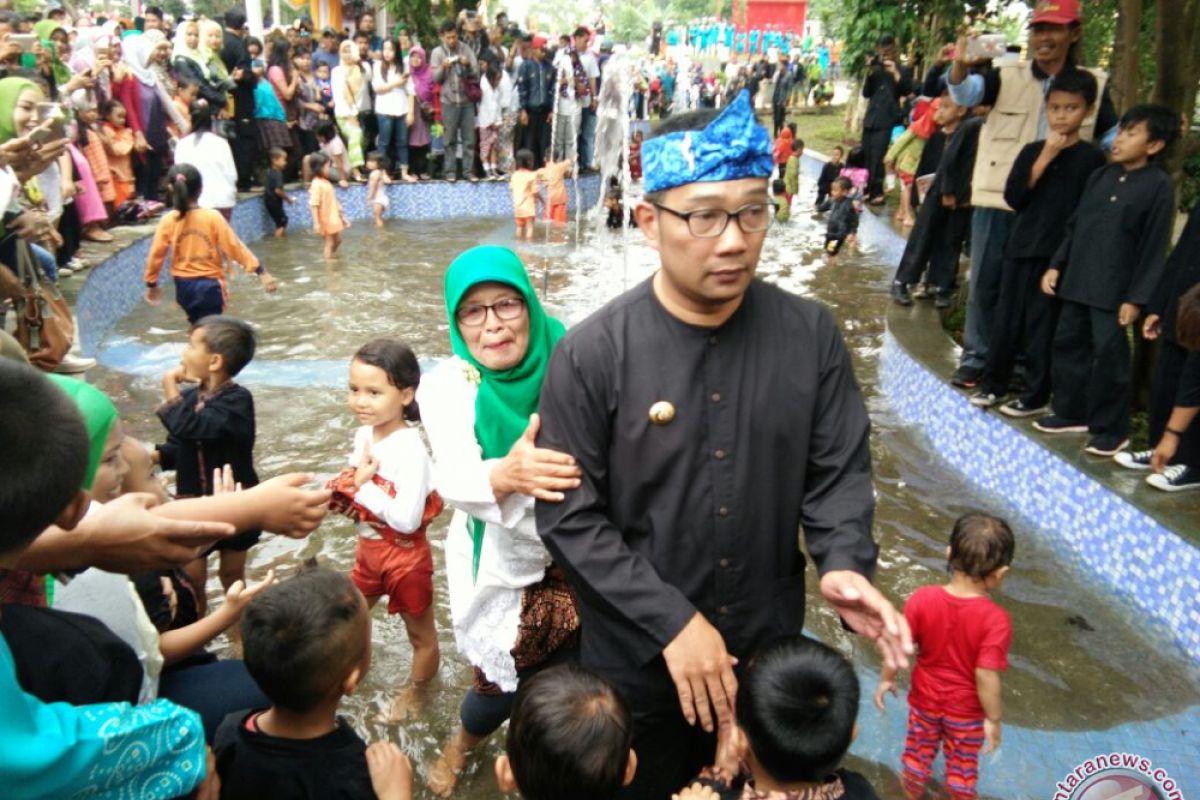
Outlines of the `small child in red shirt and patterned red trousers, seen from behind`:
M 952 577 L 944 587 L 923 587 L 904 615 L 918 648 L 908 690 L 908 735 L 901 780 L 920 798 L 937 748 L 946 751 L 946 790 L 955 800 L 976 798 L 979 752 L 1000 746 L 1000 673 L 1008 668 L 1013 626 L 1008 612 L 988 597 L 1000 589 L 1013 563 L 1015 540 L 1003 519 L 968 513 L 954 523 L 947 548 Z M 883 668 L 875 705 L 896 693 L 896 673 Z

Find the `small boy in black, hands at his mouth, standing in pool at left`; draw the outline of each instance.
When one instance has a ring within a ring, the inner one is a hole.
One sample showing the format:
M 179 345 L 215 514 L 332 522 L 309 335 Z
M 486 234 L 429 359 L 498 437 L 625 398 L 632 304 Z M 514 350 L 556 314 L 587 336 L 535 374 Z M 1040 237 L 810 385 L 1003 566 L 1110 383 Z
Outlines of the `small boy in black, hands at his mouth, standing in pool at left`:
M 167 443 L 158 446 L 158 463 L 175 470 L 178 497 L 212 494 L 212 470 L 226 464 L 244 488 L 258 486 L 254 398 L 233 380 L 253 357 L 254 330 L 240 319 L 215 314 L 196 324 L 180 365 L 162 377 L 166 402 L 158 408 L 158 419 L 167 428 Z M 196 385 L 181 389 L 180 384 Z M 226 591 L 246 579 L 246 552 L 262 533 L 246 530 L 214 546 L 221 553 L 221 585 Z M 186 567 L 193 587 L 208 584 L 209 553 Z M 203 616 L 204 593 L 198 595 Z

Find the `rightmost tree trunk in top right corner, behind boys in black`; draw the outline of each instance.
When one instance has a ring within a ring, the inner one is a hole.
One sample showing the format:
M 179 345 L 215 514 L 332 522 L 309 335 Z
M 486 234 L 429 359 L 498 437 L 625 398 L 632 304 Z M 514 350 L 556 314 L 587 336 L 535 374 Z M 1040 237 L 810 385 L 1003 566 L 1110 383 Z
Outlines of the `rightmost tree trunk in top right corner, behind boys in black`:
M 1151 100 L 1187 115 L 1195 114 L 1200 83 L 1200 0 L 1157 0 L 1154 16 L 1158 74 Z M 1178 186 L 1183 167 L 1182 148 L 1172 148 L 1166 169 Z

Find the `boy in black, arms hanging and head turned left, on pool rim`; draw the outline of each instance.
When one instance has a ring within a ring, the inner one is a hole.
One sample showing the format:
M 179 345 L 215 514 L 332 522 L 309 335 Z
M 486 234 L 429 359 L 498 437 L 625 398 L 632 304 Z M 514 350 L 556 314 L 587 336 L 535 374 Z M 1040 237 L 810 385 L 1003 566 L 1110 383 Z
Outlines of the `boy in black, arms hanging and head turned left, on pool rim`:
M 1129 444 L 1127 327 L 1151 301 L 1175 221 L 1175 188 L 1154 163 L 1180 134 L 1180 116 L 1135 106 L 1121 118 L 1112 163 L 1087 180 L 1079 210 L 1042 278 L 1062 301 L 1054 336 L 1052 414 L 1043 433 L 1090 432 L 1086 451 Z

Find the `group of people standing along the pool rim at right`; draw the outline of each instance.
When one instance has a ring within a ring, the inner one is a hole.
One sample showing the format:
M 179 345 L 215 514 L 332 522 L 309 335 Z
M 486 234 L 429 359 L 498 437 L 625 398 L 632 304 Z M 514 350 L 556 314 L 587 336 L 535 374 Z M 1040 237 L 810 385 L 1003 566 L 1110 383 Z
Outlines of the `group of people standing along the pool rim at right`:
M 894 172 L 896 221 L 912 228 L 892 295 L 949 308 L 970 245 L 952 383 L 973 390 L 979 408 L 1033 419 L 1043 434 L 1087 434 L 1088 455 L 1152 471 L 1154 488 L 1200 488 L 1200 434 L 1188 425 L 1195 365 L 1174 324 L 1200 221 L 1193 210 L 1169 255 L 1176 192 L 1162 168 L 1189 120 L 1153 104 L 1117 115 L 1105 73 L 1079 64 L 1079 4 L 1039 4 L 1030 31 L 1030 62 L 982 58 L 964 34 L 923 85 L 895 41 L 880 41 L 863 89 L 865 201 L 883 203 Z M 898 124 L 907 128 L 893 140 Z M 1134 452 L 1132 327 L 1163 338 L 1150 447 Z

